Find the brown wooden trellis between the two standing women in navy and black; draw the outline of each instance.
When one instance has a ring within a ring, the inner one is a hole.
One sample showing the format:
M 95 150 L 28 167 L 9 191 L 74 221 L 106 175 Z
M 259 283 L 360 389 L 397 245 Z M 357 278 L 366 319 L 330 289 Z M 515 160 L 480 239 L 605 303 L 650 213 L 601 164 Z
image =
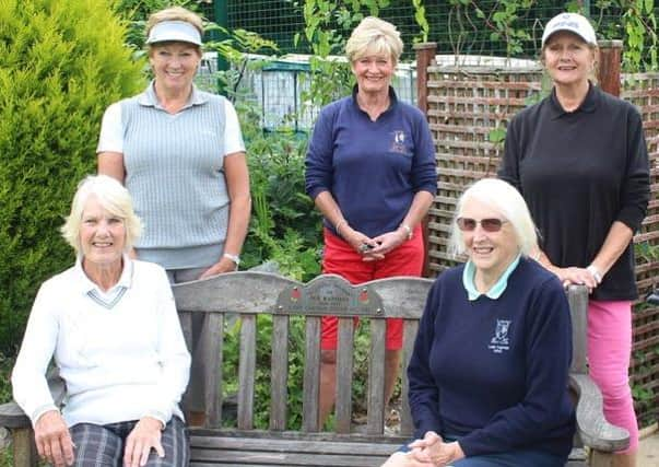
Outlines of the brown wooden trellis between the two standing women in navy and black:
M 490 132 L 526 107 L 541 78 L 540 68 L 428 68 L 427 118 L 439 172 L 428 222 L 432 276 L 457 264 L 446 253 L 456 200 L 467 185 L 496 175 L 503 144 L 491 142 Z

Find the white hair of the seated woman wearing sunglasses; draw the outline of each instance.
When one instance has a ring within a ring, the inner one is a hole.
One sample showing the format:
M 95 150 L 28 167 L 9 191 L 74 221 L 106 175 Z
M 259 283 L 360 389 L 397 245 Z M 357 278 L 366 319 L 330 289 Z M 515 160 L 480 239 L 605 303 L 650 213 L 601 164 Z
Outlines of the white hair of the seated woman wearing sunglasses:
M 498 178 L 482 178 L 467 188 L 458 200 L 448 243 L 448 252 L 454 257 L 466 253 L 464 237 L 456 220 L 462 214 L 462 209 L 469 200 L 491 207 L 493 211 L 510 222 L 517 238 L 517 246 L 522 255 L 529 256 L 536 248 L 538 245 L 536 224 L 519 191 L 513 185 Z

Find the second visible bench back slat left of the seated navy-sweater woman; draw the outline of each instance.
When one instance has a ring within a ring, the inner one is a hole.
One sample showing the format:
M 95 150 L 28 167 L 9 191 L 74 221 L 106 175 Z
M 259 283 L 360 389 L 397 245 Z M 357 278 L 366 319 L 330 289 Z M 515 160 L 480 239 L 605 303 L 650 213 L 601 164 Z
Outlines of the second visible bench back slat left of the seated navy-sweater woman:
M 387 323 L 370 319 L 370 354 L 368 358 L 367 434 L 381 434 L 385 428 L 385 343 Z

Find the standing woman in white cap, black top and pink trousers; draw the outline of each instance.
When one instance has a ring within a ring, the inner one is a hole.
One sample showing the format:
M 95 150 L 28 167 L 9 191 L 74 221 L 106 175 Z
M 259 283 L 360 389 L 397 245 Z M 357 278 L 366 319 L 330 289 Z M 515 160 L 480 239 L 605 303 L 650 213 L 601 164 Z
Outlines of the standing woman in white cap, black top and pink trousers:
M 648 154 L 634 106 L 596 86 L 598 56 L 587 19 L 563 13 L 542 35 L 550 96 L 508 125 L 499 176 L 519 189 L 541 233 L 533 252 L 561 281 L 585 284 L 590 375 L 610 423 L 629 432 L 616 467 L 634 466 L 638 425 L 628 384 L 632 301 L 638 297 L 632 237 L 649 199 Z

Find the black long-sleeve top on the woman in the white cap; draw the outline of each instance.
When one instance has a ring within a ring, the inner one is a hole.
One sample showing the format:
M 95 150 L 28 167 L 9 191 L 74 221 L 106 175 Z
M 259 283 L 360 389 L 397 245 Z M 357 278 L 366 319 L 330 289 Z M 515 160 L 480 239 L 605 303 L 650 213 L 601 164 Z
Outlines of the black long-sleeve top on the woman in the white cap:
M 501 178 L 526 199 L 541 246 L 560 267 L 587 267 L 611 225 L 640 227 L 649 200 L 648 154 L 636 108 L 590 85 L 574 112 L 552 94 L 508 125 Z M 595 300 L 634 300 L 629 244 L 595 290 Z

